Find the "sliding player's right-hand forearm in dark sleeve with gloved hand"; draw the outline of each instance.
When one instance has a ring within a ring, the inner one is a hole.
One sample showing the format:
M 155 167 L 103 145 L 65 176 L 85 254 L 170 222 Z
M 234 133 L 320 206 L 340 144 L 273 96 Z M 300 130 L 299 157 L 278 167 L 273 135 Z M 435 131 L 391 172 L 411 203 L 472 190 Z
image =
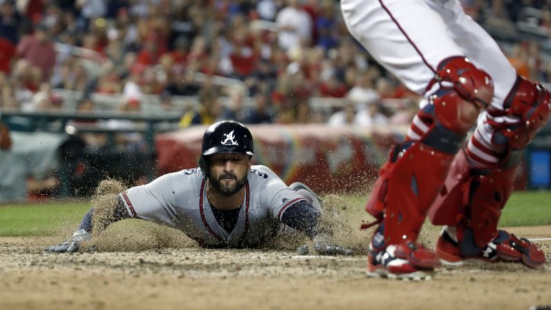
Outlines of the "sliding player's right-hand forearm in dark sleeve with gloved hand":
M 353 250 L 335 244 L 329 234 L 320 232 L 321 216 L 320 209 L 306 200 L 300 200 L 285 210 L 281 216 L 281 222 L 310 236 L 314 243 L 312 250 L 316 254 L 352 255 Z M 297 251 L 302 255 L 312 252 L 308 246 L 301 246 Z

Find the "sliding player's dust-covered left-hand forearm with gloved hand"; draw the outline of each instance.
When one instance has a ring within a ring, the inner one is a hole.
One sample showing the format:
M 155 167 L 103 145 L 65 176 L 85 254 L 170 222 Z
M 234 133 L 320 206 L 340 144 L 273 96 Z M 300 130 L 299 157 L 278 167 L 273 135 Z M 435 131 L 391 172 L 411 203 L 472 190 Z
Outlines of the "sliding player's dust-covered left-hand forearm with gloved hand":
M 116 221 L 130 218 L 128 211 L 126 211 L 118 195 L 116 198 L 113 197 L 112 201 L 114 203 L 103 204 L 96 212 L 94 212 L 94 207 L 92 207 L 90 211 L 85 214 L 84 218 L 82 218 L 78 230 L 73 232 L 73 235 L 69 239 L 60 244 L 46 247 L 44 250 L 58 253 L 76 252 L 80 248 L 80 243 L 91 239 L 92 230 L 94 230 L 94 233 L 98 233 L 105 230 L 105 227 Z M 94 213 L 96 213 L 95 216 Z

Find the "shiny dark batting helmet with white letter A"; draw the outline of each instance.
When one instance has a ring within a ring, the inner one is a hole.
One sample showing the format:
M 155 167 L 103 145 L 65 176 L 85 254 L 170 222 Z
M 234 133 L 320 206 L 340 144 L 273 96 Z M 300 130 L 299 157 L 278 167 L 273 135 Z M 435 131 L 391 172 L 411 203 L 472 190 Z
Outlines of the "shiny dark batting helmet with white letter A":
M 204 175 L 209 175 L 207 156 L 218 153 L 244 153 L 254 155 L 252 135 L 247 127 L 236 121 L 213 123 L 203 135 L 199 166 Z

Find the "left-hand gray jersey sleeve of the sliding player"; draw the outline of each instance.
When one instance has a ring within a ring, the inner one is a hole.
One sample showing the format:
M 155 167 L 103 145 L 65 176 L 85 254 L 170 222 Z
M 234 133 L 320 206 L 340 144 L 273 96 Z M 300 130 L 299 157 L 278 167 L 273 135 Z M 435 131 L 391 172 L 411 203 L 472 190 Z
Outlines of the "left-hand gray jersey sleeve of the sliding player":
M 131 216 L 177 228 L 175 211 L 175 173 L 162 175 L 146 185 L 132 187 L 119 194 Z

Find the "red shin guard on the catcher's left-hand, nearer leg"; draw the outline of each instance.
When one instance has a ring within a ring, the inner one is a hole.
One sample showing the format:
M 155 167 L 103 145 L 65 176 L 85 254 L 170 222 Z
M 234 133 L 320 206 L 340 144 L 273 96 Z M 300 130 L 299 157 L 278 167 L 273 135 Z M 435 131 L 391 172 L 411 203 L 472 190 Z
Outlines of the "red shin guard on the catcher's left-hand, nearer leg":
M 376 218 L 381 220 L 384 211 L 386 244 L 417 240 L 453 159 L 421 143 L 409 143 L 408 148 L 395 146 L 396 158 L 393 161 L 391 155 L 383 166 L 367 201 L 367 212 Z

